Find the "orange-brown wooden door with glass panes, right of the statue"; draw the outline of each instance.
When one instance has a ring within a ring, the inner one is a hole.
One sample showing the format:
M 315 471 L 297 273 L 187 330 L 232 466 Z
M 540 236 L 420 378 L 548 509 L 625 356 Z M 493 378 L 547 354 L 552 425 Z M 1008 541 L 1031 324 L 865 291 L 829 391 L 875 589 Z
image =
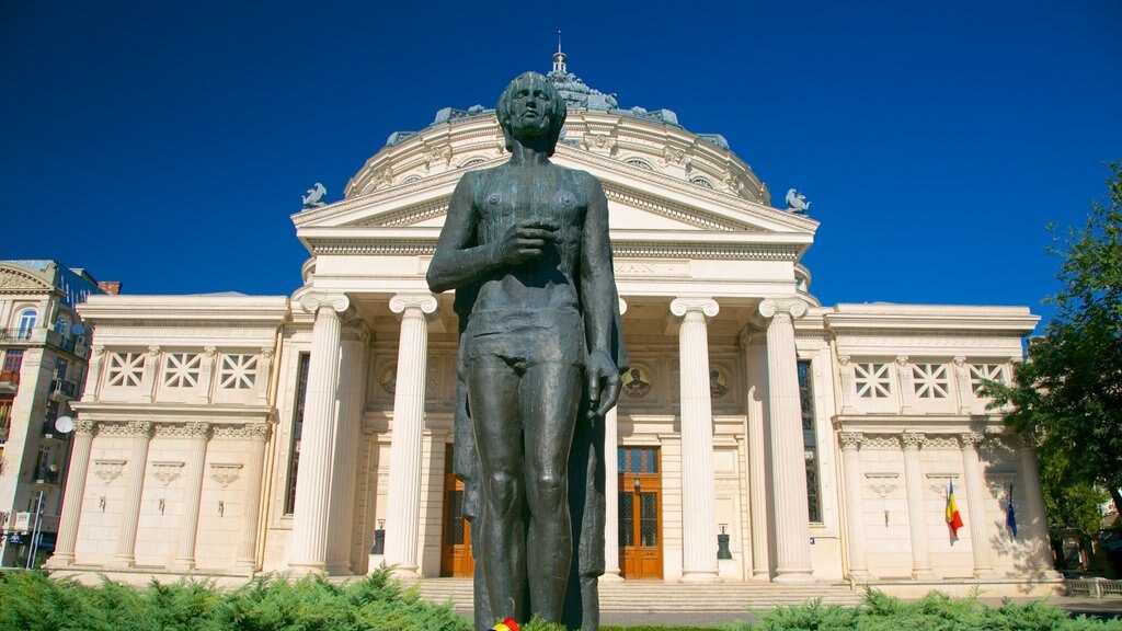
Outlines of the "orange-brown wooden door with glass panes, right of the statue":
M 620 447 L 619 569 L 624 578 L 662 578 L 662 467 L 657 447 Z

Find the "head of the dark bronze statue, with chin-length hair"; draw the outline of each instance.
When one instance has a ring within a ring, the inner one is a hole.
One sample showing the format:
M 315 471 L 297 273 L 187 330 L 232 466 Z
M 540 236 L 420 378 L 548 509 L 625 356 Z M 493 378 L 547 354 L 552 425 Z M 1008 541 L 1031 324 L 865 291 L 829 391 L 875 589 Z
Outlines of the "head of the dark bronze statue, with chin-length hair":
M 568 111 L 564 99 L 549 80 L 536 72 L 519 74 L 503 90 L 495 109 L 507 150 L 516 135 L 543 134 L 549 143 L 549 155 L 553 155 Z M 536 113 L 527 115 L 532 110 Z

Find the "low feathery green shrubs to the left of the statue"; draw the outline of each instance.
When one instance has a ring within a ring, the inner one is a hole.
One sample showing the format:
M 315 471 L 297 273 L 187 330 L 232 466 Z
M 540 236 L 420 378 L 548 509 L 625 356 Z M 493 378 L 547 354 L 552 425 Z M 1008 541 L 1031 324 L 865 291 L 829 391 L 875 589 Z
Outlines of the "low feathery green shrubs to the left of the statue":
M 138 589 L 0 574 L 0 631 L 470 631 L 448 606 L 422 601 L 387 573 L 337 585 L 263 577 L 234 592 L 209 582 Z

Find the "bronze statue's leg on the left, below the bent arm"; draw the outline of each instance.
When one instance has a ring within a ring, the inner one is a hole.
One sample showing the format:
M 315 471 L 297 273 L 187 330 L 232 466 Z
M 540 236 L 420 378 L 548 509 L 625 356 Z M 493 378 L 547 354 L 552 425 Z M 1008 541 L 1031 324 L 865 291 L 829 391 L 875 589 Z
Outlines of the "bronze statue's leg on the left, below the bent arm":
M 482 564 L 497 619 L 528 620 L 525 597 L 526 542 L 518 376 L 500 357 L 482 355 L 468 365 L 468 399 L 482 483 L 477 563 Z

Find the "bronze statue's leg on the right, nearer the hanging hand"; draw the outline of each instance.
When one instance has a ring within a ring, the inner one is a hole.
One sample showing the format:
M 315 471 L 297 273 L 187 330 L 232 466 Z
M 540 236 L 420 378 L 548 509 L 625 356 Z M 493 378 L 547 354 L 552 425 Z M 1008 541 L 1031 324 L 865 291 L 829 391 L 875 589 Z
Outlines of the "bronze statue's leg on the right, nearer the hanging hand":
M 533 613 L 561 620 L 572 561 L 569 515 L 569 448 L 580 404 L 583 368 L 568 363 L 531 366 L 522 379 L 526 451 L 526 543 Z

